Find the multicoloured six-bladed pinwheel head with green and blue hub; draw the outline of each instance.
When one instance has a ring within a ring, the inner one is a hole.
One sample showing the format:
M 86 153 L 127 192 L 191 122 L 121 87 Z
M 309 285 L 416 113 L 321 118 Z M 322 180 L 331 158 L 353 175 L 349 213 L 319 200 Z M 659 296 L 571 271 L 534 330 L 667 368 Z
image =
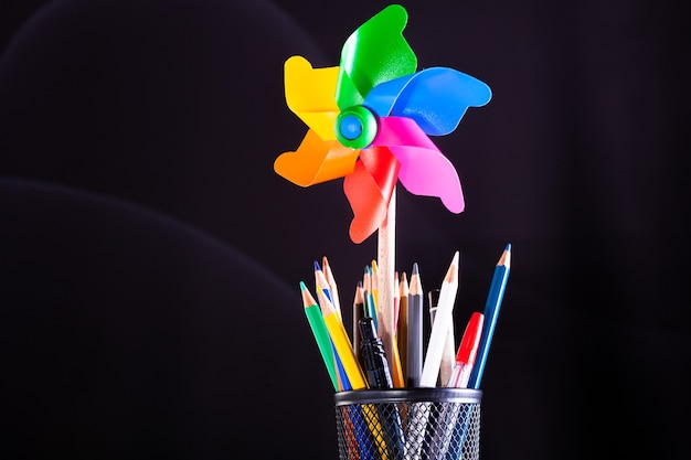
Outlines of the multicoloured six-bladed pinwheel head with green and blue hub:
M 313 68 L 301 56 L 285 63 L 286 101 L 309 130 L 274 170 L 301 186 L 344 178 L 354 243 L 385 222 L 397 181 L 464 211 L 458 173 L 428 136 L 454 131 L 468 107 L 491 98 L 489 86 L 458 71 L 417 72 L 406 22 L 405 9 L 391 4 L 350 35 L 340 66 Z

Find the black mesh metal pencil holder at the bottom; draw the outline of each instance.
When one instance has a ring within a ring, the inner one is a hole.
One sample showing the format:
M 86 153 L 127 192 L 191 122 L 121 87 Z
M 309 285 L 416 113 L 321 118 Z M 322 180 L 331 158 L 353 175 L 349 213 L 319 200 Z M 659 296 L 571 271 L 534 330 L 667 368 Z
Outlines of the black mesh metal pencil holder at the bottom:
M 478 460 L 480 389 L 334 394 L 340 460 Z

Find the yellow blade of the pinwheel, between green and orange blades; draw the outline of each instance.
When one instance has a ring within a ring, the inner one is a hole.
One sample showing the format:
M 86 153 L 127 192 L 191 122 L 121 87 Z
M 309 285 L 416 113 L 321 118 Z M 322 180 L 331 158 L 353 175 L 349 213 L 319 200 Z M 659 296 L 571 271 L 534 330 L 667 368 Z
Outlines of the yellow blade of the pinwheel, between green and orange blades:
M 336 139 L 339 114 L 336 85 L 339 67 L 313 68 L 302 56 L 286 61 L 285 90 L 288 108 L 326 141 Z

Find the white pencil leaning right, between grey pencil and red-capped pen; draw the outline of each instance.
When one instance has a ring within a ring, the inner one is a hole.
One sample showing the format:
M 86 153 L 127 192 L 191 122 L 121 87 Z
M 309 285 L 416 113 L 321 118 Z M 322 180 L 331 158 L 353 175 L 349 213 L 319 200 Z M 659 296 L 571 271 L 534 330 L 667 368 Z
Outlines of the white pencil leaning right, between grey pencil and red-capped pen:
M 437 378 L 439 377 L 439 366 L 442 364 L 446 338 L 448 336 L 448 328 L 454 321 L 454 303 L 458 289 L 458 259 L 459 254 L 456 252 L 448 267 L 448 271 L 444 277 L 444 281 L 442 282 L 439 306 L 437 307 L 434 324 L 429 333 L 427 353 L 425 354 L 425 361 L 423 363 L 423 373 L 419 377 L 419 385 L 423 387 L 436 386 Z

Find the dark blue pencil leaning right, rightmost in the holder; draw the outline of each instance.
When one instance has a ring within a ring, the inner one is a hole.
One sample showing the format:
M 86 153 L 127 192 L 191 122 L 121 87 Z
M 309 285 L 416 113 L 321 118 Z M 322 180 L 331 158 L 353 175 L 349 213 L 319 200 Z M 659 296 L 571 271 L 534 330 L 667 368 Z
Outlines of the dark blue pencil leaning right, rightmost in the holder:
M 495 267 L 495 274 L 492 275 L 489 293 L 485 303 L 485 323 L 482 324 L 482 334 L 480 335 L 480 347 L 478 349 L 475 366 L 468 379 L 468 388 L 478 389 L 480 387 L 482 373 L 485 372 L 485 365 L 487 363 L 487 355 L 489 354 L 489 346 L 492 342 L 495 328 L 497 327 L 497 318 L 501 309 L 503 292 L 509 280 L 509 271 L 511 271 L 511 243 L 507 244 L 507 247 L 501 253 L 497 266 Z

